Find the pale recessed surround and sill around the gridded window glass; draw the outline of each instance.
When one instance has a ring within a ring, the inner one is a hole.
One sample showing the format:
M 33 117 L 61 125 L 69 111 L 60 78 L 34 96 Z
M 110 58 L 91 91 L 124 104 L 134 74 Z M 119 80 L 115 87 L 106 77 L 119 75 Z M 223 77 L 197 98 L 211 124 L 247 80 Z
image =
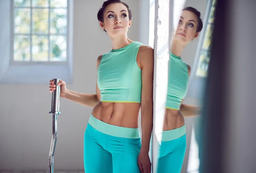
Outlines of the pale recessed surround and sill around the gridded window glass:
M 14 6 L 13 1 L 0 2 L 0 84 L 47 84 L 52 78 L 73 81 L 73 0 L 67 0 L 67 61 L 14 61 Z M 2 14 L 1 14 L 2 13 Z M 9 20 L 8 20 L 9 19 Z M 0 34 L 1 36 L 1 34 Z M 9 52 L 8 52 L 9 50 Z

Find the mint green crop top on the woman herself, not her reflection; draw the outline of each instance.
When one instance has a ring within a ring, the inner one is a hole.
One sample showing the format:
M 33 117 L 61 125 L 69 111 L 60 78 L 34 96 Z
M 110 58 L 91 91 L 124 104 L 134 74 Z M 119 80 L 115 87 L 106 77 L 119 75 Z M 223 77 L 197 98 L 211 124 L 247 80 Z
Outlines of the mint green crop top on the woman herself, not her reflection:
M 102 55 L 97 79 L 102 102 L 141 102 L 141 69 L 136 59 L 142 45 L 134 41 Z

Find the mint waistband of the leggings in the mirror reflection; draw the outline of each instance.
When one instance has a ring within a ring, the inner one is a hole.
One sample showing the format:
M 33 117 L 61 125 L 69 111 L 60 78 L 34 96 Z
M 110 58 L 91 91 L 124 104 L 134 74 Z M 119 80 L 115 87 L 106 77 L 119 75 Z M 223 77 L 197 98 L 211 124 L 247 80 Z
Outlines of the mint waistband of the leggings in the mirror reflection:
M 186 135 L 186 124 L 177 129 L 163 131 L 162 141 L 172 141 L 184 135 Z

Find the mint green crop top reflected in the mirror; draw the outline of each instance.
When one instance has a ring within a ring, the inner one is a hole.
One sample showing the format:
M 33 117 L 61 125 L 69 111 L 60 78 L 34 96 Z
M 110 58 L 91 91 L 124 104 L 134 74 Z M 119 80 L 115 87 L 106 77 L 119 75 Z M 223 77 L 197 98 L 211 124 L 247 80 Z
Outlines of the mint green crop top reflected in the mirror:
M 189 83 L 188 66 L 182 59 L 170 52 L 168 66 L 168 88 L 166 108 L 179 110 L 186 96 Z

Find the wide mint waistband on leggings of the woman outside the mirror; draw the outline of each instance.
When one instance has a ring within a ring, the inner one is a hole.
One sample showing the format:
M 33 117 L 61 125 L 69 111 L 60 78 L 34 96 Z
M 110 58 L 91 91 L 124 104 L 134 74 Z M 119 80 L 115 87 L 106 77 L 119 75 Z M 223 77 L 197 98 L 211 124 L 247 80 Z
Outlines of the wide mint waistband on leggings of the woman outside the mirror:
M 114 126 L 99 119 L 95 118 L 92 114 L 90 115 L 88 124 L 93 127 L 95 130 L 98 130 L 101 133 L 105 133 L 110 136 L 116 136 L 120 138 L 140 138 L 139 128 L 128 128 L 128 127 L 119 127 Z

